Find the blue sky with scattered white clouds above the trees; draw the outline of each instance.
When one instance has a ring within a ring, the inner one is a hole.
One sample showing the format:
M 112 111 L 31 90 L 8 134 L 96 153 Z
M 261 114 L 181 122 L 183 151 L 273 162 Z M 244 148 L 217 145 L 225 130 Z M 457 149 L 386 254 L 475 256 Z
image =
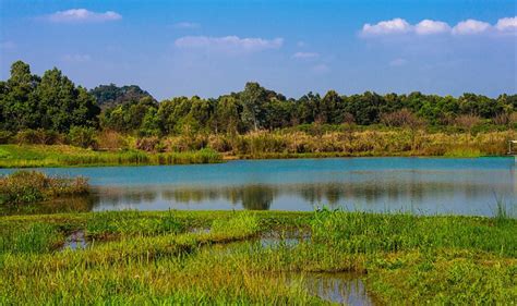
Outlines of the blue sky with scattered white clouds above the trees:
M 249 81 L 298 98 L 517 91 L 515 0 L 0 0 L 16 60 L 93 88 L 218 97 Z

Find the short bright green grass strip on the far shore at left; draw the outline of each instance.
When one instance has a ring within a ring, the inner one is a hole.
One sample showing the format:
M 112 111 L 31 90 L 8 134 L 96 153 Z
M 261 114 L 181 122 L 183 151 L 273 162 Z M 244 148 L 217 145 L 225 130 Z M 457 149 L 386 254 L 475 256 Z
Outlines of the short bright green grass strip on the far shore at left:
M 220 162 L 211 149 L 151 154 L 141 150 L 94 151 L 65 145 L 0 145 L 0 168 L 185 164 Z

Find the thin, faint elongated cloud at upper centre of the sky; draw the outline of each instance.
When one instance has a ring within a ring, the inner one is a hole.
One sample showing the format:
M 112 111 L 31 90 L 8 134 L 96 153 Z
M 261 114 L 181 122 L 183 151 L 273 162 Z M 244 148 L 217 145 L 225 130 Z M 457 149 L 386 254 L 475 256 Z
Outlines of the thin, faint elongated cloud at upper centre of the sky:
M 282 38 L 239 38 L 238 36 L 184 36 L 176 39 L 175 41 L 175 46 L 177 48 L 204 49 L 229 53 L 257 52 L 267 49 L 278 49 L 282 45 Z

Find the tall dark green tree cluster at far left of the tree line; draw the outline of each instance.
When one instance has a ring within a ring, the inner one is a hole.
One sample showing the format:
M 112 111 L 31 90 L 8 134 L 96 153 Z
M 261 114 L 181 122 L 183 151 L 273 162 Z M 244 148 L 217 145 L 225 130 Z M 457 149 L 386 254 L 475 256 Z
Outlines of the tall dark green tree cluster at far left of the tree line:
M 11 66 L 11 77 L 0 82 L 0 127 L 5 131 L 68 132 L 72 126 L 96 126 L 99 111 L 95 98 L 58 69 L 39 77 L 17 61 Z

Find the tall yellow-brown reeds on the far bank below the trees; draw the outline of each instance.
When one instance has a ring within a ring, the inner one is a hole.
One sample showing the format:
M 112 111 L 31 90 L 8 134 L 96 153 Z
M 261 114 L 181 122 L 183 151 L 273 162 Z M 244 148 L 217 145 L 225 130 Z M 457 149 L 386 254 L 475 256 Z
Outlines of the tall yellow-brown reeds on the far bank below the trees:
M 244 135 L 168 137 L 166 148 L 207 146 L 219 152 L 248 158 L 327 156 L 455 156 L 504 155 L 515 131 L 478 133 L 429 133 L 409 128 L 364 130 L 309 134 L 292 131 L 258 131 Z

